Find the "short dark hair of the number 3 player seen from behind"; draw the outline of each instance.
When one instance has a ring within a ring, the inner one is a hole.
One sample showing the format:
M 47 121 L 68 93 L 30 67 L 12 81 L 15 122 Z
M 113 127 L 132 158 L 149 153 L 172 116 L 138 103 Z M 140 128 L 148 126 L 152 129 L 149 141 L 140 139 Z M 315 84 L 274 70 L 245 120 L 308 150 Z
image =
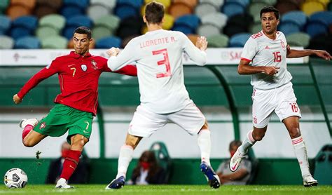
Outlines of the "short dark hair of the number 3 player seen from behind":
M 145 18 L 148 23 L 160 24 L 164 17 L 165 8 L 158 2 L 151 2 L 145 6 Z

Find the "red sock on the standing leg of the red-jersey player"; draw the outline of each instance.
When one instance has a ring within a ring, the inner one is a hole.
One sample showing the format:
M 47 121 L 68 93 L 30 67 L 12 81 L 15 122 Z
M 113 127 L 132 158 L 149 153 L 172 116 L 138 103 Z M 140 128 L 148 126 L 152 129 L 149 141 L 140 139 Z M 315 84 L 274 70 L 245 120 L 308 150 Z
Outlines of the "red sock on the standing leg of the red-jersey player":
M 69 177 L 73 175 L 77 167 L 77 163 L 80 159 L 80 156 L 81 156 L 81 151 L 69 150 L 66 159 L 64 159 L 64 164 L 60 178 L 64 178 L 64 180 L 69 180 Z

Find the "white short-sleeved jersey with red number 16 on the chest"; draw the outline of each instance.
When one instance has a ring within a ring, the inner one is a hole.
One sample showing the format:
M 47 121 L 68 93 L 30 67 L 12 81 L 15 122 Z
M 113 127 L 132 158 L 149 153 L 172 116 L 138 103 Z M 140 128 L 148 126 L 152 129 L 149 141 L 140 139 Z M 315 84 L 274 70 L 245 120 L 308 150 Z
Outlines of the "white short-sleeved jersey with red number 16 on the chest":
M 252 61 L 252 66 L 280 67 L 275 75 L 258 73 L 251 75 L 251 85 L 258 89 L 271 89 L 291 81 L 286 65 L 287 41 L 282 32 L 272 40 L 263 31 L 251 35 L 244 45 L 241 59 Z

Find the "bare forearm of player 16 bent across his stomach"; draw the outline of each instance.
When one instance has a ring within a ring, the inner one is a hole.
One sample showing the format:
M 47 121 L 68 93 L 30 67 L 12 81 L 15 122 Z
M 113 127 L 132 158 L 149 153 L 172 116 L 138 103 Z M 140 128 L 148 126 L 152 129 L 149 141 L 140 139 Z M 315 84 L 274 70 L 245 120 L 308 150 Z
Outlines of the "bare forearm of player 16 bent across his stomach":
M 277 74 L 280 67 L 253 67 L 249 65 L 249 61 L 241 60 L 239 66 L 237 67 L 237 72 L 239 74 L 257 74 L 257 73 L 265 73 L 268 75 Z

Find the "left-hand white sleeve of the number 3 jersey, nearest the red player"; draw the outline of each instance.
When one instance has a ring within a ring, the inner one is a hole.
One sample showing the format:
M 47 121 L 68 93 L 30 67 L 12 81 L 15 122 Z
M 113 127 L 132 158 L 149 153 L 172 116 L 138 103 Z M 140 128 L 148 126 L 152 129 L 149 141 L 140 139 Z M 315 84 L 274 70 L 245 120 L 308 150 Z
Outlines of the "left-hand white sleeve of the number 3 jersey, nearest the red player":
M 112 56 L 107 60 L 107 66 L 112 71 L 117 71 L 118 69 L 121 69 L 125 65 L 131 64 L 132 62 L 137 60 L 137 55 L 135 55 L 134 51 L 134 39 L 130 40 L 127 43 L 127 46 L 123 49 L 123 51 L 120 51 L 118 56 Z

